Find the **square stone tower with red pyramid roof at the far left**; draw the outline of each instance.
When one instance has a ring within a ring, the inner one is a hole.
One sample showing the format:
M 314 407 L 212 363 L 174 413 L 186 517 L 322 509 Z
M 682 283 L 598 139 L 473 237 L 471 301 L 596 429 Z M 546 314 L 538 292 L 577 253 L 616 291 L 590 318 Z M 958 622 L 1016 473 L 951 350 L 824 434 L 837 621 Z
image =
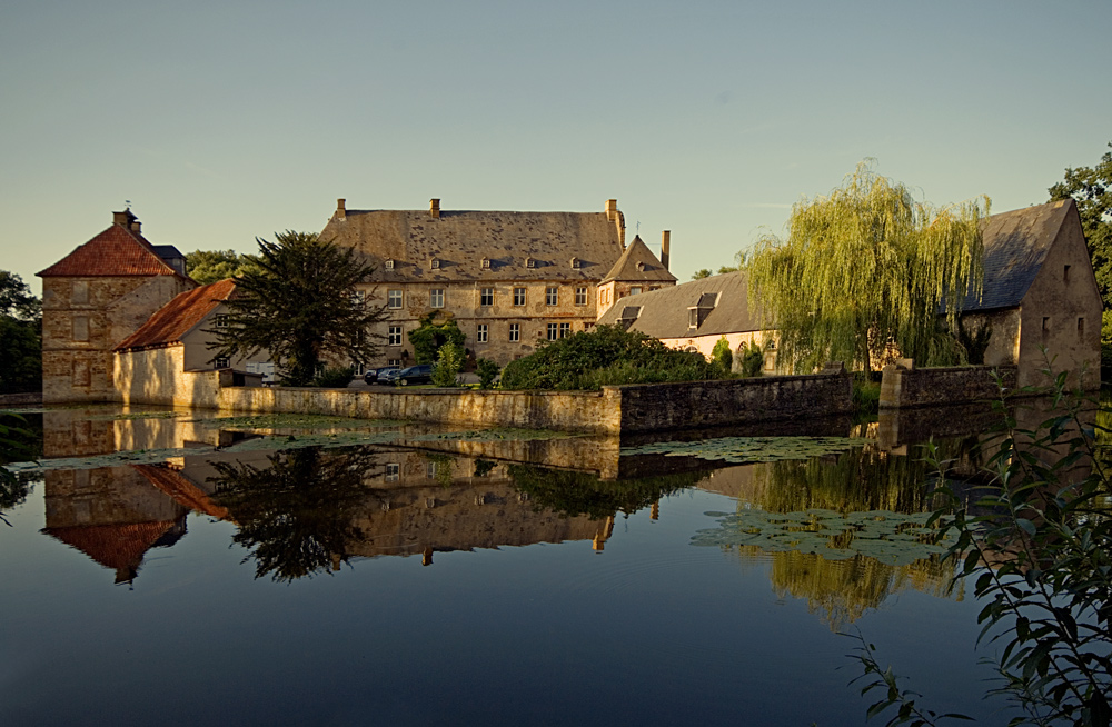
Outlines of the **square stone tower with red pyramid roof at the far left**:
M 161 257 L 160 252 L 166 257 Z M 38 273 L 42 278 L 42 400 L 112 401 L 112 349 L 179 292 L 197 287 L 180 253 L 140 233 L 131 210 Z

